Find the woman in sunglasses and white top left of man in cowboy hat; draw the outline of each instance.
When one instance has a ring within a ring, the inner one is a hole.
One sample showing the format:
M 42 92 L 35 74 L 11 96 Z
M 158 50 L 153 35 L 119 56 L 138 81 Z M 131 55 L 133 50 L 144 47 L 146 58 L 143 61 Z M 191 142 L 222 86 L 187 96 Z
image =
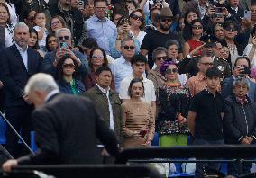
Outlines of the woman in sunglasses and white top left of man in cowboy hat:
M 137 9 L 130 14 L 129 18 L 131 24 L 130 33 L 133 38 L 138 39 L 140 46 L 142 45 L 142 40 L 144 39 L 146 32 L 142 31 L 145 28 L 145 18 L 141 9 Z

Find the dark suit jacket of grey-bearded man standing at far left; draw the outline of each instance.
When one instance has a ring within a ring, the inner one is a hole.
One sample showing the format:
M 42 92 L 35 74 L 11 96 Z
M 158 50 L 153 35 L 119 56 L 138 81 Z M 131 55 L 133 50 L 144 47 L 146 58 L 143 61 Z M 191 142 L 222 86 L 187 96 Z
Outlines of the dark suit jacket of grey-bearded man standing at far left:
M 31 48 L 27 52 L 28 71 L 15 44 L 1 51 L 0 74 L 5 85 L 5 107 L 26 104 L 23 101 L 24 86 L 32 75 L 41 72 L 42 60 L 39 53 Z

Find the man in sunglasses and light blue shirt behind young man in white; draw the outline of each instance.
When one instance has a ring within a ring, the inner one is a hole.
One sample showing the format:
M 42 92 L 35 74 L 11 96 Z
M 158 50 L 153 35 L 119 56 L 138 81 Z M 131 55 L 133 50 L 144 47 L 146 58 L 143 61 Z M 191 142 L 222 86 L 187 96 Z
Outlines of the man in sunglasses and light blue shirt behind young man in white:
M 114 76 L 115 92 L 119 93 L 121 81 L 126 76 L 132 76 L 133 68 L 131 66 L 131 58 L 135 54 L 135 45 L 133 39 L 126 38 L 121 41 L 121 54 L 120 58 L 114 60 L 110 68 Z

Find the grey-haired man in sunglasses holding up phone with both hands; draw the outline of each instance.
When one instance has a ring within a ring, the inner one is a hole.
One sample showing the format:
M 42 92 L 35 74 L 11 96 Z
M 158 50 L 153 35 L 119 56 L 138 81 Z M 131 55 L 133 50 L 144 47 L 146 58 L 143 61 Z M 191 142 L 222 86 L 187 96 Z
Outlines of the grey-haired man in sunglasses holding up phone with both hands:
M 43 72 L 50 74 L 53 77 L 57 77 L 57 64 L 59 59 L 64 55 L 69 55 L 78 63 L 78 74 L 80 76 L 86 76 L 88 74 L 88 67 L 86 59 L 82 53 L 77 50 L 72 50 L 71 46 L 71 32 L 67 28 L 62 28 L 56 31 L 56 42 L 58 49 L 46 53 L 43 58 Z

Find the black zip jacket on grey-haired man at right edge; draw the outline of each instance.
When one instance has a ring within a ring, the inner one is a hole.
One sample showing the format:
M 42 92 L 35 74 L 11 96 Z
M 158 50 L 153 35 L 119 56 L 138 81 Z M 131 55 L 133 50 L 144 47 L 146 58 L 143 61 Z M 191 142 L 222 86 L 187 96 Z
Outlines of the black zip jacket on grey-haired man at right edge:
M 246 136 L 256 136 L 256 104 L 247 98 L 243 105 L 233 95 L 225 99 L 224 141 L 239 144 Z

